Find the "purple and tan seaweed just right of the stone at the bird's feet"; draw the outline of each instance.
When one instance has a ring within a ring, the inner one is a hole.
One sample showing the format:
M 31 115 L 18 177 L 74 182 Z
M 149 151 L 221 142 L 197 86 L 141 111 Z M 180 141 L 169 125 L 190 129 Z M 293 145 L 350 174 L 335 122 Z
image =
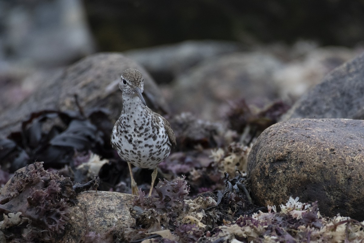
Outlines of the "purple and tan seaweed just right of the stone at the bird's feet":
M 249 202 L 245 192 L 238 187 L 234 191 L 229 188 L 224 192 L 209 191 L 190 199 L 183 199 L 189 190 L 185 177 L 160 181 L 156 188 L 159 199 L 146 199 L 141 190 L 134 199 L 130 212 L 137 219 L 137 227 L 129 228 L 126 233 L 134 242 L 141 238 L 150 242 L 182 243 L 206 240 L 206 234 L 222 225 L 225 219 L 238 218 L 233 216 L 234 212 L 241 212 L 236 207 L 250 209 L 246 207 Z M 150 234 L 156 235 L 150 239 Z

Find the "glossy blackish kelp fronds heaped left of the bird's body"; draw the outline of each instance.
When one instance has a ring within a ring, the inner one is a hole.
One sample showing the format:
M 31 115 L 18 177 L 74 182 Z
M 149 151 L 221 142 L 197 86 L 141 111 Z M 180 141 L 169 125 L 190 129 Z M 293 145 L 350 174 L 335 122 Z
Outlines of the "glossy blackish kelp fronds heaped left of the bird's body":
M 46 168 L 62 168 L 72 162 L 75 151 L 110 155 L 111 146 L 105 141 L 111 128 L 102 110 L 87 117 L 70 111 L 32 113 L 22 123 L 21 131 L 0 140 L 0 166 L 13 172 L 34 161 L 44 161 Z

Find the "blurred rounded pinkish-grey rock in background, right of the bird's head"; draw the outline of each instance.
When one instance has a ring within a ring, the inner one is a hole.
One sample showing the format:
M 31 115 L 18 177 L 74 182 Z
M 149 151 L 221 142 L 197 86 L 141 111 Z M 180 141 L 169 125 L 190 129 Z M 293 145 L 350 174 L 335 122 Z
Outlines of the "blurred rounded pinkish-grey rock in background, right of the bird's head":
M 209 59 L 173 81 L 171 103 L 176 113 L 190 111 L 202 119 L 220 119 L 229 100 L 275 99 L 277 88 L 270 76 L 281 67 L 281 61 L 259 52 Z

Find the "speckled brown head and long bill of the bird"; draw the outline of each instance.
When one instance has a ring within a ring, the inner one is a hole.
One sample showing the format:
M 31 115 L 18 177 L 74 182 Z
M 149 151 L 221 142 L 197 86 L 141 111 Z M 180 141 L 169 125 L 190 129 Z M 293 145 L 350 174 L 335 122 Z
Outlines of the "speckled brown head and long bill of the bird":
M 119 88 L 123 92 L 123 95 L 139 96 L 143 104 L 146 104 L 142 95 L 144 90 L 143 76 L 137 69 L 129 68 L 123 72 L 119 82 Z

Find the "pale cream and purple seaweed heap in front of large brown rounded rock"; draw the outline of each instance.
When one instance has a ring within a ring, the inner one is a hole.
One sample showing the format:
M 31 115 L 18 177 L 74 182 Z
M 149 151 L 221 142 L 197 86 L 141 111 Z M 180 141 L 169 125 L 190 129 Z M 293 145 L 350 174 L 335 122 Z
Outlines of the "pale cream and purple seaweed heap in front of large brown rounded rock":
M 301 203 L 290 197 L 281 204 L 268 206 L 268 212 L 259 211 L 252 216 L 240 216 L 234 222 L 219 226 L 208 242 L 353 242 L 364 239 L 364 222 L 337 215 L 320 215 L 318 204 Z

